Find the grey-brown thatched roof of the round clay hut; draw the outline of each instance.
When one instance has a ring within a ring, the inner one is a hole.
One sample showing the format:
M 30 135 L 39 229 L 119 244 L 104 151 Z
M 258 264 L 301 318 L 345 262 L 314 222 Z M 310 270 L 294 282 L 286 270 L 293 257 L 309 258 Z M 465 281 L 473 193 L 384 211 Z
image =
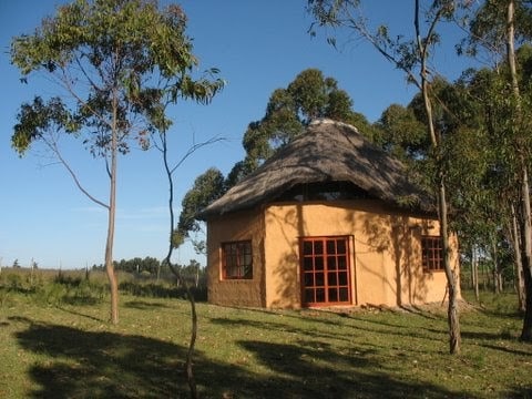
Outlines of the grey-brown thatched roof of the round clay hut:
M 198 216 L 207 219 L 275 200 L 297 184 L 349 182 L 371 197 L 415 209 L 430 209 L 426 193 L 412 184 L 405 165 L 365 139 L 356 127 L 317 120 L 253 174 Z

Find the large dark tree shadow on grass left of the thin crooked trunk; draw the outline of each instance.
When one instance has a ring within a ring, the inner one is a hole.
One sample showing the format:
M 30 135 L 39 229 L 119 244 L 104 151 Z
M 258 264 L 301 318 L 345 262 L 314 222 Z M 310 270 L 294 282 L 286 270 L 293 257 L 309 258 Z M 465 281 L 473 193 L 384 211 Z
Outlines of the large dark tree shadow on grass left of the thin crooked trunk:
M 14 318 L 13 318 L 14 319 Z M 43 355 L 29 369 L 31 398 L 166 398 L 186 396 L 185 349 L 162 340 L 25 321 L 20 345 Z

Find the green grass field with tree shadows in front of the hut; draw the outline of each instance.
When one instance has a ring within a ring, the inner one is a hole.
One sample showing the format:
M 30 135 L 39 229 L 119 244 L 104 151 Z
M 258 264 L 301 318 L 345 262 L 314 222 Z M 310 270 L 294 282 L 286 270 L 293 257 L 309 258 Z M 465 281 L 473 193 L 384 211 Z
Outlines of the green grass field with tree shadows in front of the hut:
M 532 398 L 532 345 L 515 298 L 484 295 L 462 313 L 462 354 L 447 319 L 423 310 L 263 311 L 198 304 L 202 398 Z M 1 398 L 186 398 L 190 308 L 122 295 L 43 301 L 0 289 Z

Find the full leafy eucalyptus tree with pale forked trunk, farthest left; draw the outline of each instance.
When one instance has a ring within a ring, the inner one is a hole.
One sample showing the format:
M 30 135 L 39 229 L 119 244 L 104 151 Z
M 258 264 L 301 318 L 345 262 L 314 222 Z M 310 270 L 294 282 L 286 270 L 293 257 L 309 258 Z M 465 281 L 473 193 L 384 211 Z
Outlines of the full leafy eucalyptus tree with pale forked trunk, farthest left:
M 104 258 L 113 324 L 119 321 L 113 268 L 119 155 L 132 145 L 147 149 L 150 132 L 166 131 L 165 104 L 209 94 L 192 78 L 197 59 L 185 29 L 186 16 L 175 4 L 160 9 L 156 0 L 75 0 L 11 43 L 11 62 L 22 80 L 43 72 L 59 92 L 21 105 L 12 145 L 22 155 L 32 143 L 43 143 L 76 186 L 106 209 Z M 84 188 L 61 151 L 62 135 L 79 139 L 103 158 L 106 201 Z

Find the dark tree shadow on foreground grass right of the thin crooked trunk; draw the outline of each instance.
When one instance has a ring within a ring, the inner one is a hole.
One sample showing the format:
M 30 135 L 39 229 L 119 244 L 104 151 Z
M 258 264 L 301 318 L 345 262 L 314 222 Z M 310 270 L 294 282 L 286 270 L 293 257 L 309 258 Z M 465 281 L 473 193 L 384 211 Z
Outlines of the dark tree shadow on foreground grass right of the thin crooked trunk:
M 450 398 L 457 392 L 430 383 L 401 381 L 386 365 L 356 351 L 338 354 L 316 341 L 297 345 L 243 340 L 276 379 L 265 383 L 264 398 Z M 245 381 L 243 381 L 245 388 Z

